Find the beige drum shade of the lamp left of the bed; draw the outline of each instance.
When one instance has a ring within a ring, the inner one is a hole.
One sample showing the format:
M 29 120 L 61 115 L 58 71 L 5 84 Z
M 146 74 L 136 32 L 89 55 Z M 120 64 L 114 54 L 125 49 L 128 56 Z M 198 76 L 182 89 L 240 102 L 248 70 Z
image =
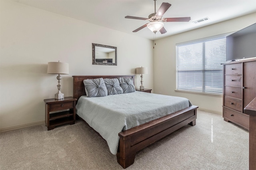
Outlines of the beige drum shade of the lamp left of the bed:
M 68 74 L 69 73 L 68 63 L 48 62 L 47 73 L 48 74 Z

